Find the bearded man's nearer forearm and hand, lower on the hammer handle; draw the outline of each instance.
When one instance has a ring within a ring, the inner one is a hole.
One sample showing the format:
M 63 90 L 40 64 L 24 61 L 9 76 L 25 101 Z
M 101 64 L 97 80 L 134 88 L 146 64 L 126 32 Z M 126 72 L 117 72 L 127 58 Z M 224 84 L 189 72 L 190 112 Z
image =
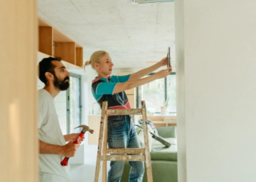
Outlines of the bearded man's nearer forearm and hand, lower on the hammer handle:
M 69 141 L 64 146 L 57 146 L 43 141 L 39 141 L 39 154 L 58 154 L 64 157 L 74 157 L 80 144 L 74 144 L 74 141 Z

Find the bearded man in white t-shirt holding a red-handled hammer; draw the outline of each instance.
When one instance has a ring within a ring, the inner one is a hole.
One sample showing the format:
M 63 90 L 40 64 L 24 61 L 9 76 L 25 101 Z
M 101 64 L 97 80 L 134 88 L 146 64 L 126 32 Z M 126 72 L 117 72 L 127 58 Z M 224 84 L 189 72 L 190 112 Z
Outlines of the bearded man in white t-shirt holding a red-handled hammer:
M 61 166 L 61 161 L 75 156 L 80 144 L 73 142 L 79 133 L 62 134 L 53 101 L 61 90 L 69 88 L 69 72 L 60 58 L 44 58 L 38 67 L 39 79 L 45 83 L 38 90 L 39 181 L 69 182 L 69 165 Z

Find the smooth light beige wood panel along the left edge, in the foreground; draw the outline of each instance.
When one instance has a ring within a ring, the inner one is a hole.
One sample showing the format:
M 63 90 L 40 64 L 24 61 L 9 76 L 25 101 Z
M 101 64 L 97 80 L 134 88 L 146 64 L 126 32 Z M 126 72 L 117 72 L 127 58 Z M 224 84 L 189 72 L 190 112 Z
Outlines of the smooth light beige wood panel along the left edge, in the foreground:
M 37 1 L 0 6 L 1 181 L 37 181 Z

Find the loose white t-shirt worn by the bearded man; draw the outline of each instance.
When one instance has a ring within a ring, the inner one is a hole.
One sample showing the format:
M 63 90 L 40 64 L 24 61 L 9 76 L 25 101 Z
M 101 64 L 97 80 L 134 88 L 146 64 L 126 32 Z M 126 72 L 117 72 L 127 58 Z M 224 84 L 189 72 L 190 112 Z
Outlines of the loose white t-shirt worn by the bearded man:
M 59 126 L 53 97 L 44 89 L 38 90 L 38 132 L 39 141 L 64 146 L 64 136 Z M 69 181 L 69 165 L 61 166 L 64 156 L 58 154 L 39 154 L 39 172 L 61 175 Z

